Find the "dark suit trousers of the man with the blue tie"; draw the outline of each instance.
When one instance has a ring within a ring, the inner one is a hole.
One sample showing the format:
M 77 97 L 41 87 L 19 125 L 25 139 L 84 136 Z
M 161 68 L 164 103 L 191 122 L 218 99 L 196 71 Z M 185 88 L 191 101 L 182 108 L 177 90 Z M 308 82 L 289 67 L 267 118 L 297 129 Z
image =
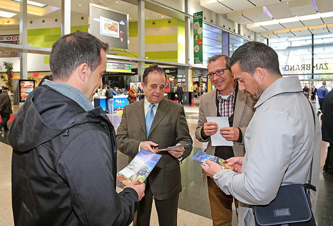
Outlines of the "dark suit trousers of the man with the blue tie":
M 179 194 L 164 200 L 155 200 L 158 224 L 160 226 L 176 226 Z M 147 180 L 145 196 L 140 200 L 139 207 L 134 213 L 133 226 L 147 226 L 150 224 L 153 193 Z

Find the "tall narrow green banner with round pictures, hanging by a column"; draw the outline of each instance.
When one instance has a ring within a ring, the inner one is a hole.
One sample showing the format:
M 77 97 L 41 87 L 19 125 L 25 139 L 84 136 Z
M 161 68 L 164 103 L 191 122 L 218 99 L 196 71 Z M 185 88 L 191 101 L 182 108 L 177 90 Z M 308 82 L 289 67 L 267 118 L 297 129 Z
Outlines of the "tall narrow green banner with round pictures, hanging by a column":
M 203 11 L 193 14 L 194 63 L 202 64 Z

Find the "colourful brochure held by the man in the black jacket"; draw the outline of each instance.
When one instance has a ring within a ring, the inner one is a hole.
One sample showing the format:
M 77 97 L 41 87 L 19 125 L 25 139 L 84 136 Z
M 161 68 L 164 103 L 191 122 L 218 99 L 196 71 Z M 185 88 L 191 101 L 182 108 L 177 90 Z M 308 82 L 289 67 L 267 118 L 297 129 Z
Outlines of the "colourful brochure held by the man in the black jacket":
M 161 157 L 147 150 L 140 150 L 124 169 L 117 172 L 117 186 L 123 188 L 131 181 L 136 184 L 146 181 Z

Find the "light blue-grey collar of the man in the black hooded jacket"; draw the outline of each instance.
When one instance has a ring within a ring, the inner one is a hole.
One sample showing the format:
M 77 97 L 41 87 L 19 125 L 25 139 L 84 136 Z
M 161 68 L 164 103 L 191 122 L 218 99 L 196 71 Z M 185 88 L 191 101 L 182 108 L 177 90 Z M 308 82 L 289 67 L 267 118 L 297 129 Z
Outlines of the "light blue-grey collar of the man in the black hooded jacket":
M 52 82 L 45 79 L 43 85 L 49 86 L 51 89 L 61 93 L 62 95 L 73 99 L 78 103 L 85 111 L 90 111 L 93 109 L 93 106 L 89 99 L 77 88 L 70 86 L 64 83 Z

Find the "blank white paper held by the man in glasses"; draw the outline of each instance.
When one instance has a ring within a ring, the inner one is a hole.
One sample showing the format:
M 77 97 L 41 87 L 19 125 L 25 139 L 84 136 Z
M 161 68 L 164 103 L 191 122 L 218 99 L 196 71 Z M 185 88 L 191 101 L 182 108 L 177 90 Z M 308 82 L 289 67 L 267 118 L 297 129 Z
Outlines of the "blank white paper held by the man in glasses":
M 219 129 L 216 134 L 210 136 L 211 146 L 233 146 L 232 141 L 226 140 L 220 134 L 220 130 L 223 127 L 230 127 L 228 117 L 206 117 L 207 121 L 213 121 L 218 123 Z

